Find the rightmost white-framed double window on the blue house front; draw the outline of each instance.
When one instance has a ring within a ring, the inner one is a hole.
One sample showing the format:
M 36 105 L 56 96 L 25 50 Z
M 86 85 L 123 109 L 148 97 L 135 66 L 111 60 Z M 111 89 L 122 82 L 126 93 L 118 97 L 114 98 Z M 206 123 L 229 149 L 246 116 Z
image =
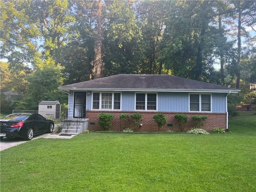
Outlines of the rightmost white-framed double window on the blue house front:
M 211 94 L 190 94 L 190 111 L 208 111 L 211 109 Z

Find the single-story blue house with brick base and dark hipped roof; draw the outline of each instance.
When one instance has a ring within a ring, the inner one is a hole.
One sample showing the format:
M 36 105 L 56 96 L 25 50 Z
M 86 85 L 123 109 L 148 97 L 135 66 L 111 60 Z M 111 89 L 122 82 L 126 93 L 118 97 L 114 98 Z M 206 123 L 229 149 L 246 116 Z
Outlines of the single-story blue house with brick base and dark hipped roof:
M 69 96 L 68 119 L 88 120 L 88 130 L 103 130 L 100 113 L 114 114 L 111 130 L 122 131 L 119 115 L 142 114 L 140 132 L 157 132 L 153 116 L 162 113 L 167 124 L 160 131 L 179 131 L 175 114 L 186 114 L 186 130 L 192 128 L 192 116 L 208 116 L 204 129 L 228 129 L 227 96 L 240 90 L 206 82 L 171 76 L 118 74 L 59 87 Z

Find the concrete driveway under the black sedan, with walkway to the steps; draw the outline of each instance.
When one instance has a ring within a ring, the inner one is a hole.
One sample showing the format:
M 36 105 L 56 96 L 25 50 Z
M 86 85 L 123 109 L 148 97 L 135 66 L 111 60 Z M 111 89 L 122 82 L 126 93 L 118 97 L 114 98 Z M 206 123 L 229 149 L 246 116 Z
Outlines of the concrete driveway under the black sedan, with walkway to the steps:
M 59 134 L 52 134 L 52 133 L 44 133 L 44 134 L 40 134 L 40 135 L 36 135 L 32 138 L 32 140 L 34 139 L 38 139 L 38 138 L 59 138 L 59 139 L 70 139 L 72 137 L 74 137 L 75 135 L 71 135 L 71 136 L 60 136 Z M 28 141 L 24 141 L 23 138 L 6 138 L 4 137 L 1 141 L 0 141 L 0 151 L 11 148 L 13 146 L 17 146 L 19 144 L 25 143 Z

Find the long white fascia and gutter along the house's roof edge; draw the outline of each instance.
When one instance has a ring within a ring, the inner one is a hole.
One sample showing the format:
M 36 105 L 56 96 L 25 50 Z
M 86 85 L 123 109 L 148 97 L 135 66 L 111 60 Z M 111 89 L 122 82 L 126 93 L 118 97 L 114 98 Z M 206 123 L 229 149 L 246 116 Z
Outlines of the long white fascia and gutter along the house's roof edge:
M 241 90 L 219 90 L 219 89 L 128 89 L 128 88 L 77 88 L 77 87 L 69 87 L 62 88 L 59 87 L 60 90 L 76 90 L 76 91 L 129 91 L 129 92 L 194 92 L 194 93 L 239 93 Z

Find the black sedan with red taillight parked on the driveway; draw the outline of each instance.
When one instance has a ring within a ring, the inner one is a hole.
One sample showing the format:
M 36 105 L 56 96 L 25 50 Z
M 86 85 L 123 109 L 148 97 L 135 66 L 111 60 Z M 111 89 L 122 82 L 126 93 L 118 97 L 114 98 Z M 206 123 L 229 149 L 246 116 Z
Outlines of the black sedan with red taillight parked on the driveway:
M 40 114 L 14 113 L 0 120 L 0 138 L 22 137 L 31 140 L 34 135 L 52 133 L 54 122 L 44 118 Z

